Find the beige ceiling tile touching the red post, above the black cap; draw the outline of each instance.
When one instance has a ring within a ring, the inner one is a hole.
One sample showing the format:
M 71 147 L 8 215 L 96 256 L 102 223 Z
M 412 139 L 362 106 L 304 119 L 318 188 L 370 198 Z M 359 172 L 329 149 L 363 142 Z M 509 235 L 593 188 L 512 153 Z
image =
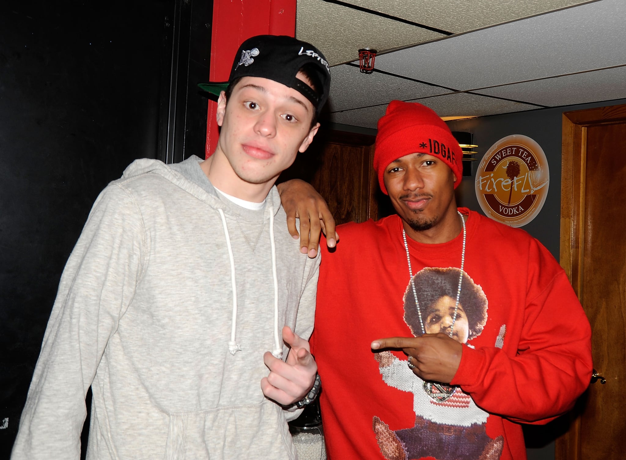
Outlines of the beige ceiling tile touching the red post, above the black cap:
M 359 59 L 359 48 L 381 52 L 445 35 L 323 0 L 299 0 L 295 36 L 314 44 L 334 65 Z

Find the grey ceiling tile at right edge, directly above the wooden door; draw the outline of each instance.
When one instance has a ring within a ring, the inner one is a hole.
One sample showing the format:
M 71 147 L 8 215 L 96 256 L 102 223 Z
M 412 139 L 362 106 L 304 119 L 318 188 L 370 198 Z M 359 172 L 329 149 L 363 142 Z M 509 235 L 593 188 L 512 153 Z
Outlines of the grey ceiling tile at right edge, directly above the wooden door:
M 626 98 L 626 66 L 476 92 L 555 107 L 622 99 Z

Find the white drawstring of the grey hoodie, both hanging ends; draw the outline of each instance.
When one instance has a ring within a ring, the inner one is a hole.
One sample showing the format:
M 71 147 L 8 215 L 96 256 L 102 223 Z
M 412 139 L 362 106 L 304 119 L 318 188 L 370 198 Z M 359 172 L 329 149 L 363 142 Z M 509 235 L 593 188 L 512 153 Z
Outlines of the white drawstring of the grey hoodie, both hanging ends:
M 233 257 L 232 245 L 230 244 L 230 235 L 228 234 L 228 226 L 226 225 L 226 217 L 221 208 L 217 209 L 222 218 L 222 227 L 224 229 L 224 237 L 228 247 L 228 259 L 230 260 L 230 284 L 233 292 L 233 315 L 230 326 L 230 341 L 228 342 L 228 351 L 234 355 L 241 350 L 241 345 L 237 343 L 235 334 L 237 332 L 237 282 L 235 280 L 235 258 Z M 270 210 L 270 245 L 272 247 L 272 278 L 274 279 L 274 350 L 272 355 L 278 359 L 282 358 L 282 347 L 280 345 L 280 337 L 278 330 L 278 275 L 276 269 L 276 243 L 274 241 L 274 213 Z

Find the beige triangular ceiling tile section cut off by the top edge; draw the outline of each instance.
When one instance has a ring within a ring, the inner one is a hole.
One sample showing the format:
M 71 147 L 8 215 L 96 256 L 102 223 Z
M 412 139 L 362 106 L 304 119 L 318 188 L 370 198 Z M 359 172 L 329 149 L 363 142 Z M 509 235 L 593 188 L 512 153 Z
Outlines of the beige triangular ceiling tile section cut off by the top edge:
M 460 33 L 583 2 L 580 0 L 396 0 L 384 2 L 348 0 L 348 3 L 408 19 L 425 26 Z

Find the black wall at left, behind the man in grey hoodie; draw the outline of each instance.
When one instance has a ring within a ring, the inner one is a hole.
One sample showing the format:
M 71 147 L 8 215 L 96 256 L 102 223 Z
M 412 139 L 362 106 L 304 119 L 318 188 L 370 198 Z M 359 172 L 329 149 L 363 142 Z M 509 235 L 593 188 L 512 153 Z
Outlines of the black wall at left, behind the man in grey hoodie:
M 136 158 L 204 155 L 195 85 L 211 13 L 191 0 L 0 3 L 0 459 L 98 193 Z

